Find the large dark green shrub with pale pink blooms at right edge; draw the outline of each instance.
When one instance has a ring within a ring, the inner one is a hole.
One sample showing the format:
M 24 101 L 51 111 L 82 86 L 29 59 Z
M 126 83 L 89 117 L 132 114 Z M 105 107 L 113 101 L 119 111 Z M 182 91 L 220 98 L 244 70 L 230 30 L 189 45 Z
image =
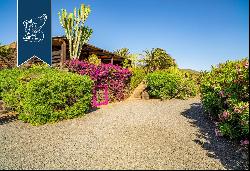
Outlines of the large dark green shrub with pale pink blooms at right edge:
M 216 121 L 218 136 L 249 136 L 249 62 L 227 61 L 201 76 L 201 97 L 206 113 Z

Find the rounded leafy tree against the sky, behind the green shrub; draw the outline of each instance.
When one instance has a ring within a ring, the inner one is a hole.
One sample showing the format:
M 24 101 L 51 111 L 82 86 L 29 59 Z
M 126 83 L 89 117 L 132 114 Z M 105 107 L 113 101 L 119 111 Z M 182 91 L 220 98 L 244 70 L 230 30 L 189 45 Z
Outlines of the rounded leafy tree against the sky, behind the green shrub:
M 175 59 L 161 48 L 153 48 L 150 51 L 145 50 L 143 56 L 144 59 L 142 62 L 144 63 L 147 72 L 177 67 Z

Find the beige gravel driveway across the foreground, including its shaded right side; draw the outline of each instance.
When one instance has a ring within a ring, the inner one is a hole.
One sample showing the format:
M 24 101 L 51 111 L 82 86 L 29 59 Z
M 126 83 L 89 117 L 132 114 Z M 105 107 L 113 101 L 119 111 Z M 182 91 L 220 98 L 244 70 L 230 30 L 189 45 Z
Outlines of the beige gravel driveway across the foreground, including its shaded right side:
M 0 124 L 0 169 L 246 169 L 199 99 L 128 100 L 34 127 Z

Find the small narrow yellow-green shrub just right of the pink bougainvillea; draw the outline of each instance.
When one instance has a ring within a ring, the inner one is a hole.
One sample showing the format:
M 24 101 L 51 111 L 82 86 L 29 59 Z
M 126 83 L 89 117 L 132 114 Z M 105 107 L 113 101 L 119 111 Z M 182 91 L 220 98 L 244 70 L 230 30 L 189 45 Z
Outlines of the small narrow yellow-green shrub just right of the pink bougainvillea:
M 133 91 L 146 77 L 146 72 L 142 68 L 133 68 L 130 80 L 130 91 Z

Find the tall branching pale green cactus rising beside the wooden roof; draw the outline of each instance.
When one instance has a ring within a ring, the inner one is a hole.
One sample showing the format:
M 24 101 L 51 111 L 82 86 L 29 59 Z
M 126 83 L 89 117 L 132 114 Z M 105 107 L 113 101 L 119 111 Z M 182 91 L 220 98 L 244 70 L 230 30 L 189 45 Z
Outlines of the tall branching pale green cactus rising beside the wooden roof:
M 91 28 L 84 25 L 91 10 L 89 6 L 82 4 L 80 9 L 74 9 L 74 13 L 67 13 L 66 9 L 61 11 L 62 13 L 58 12 L 58 15 L 69 40 L 70 58 L 77 59 L 81 54 L 82 46 L 89 41 L 93 33 Z

